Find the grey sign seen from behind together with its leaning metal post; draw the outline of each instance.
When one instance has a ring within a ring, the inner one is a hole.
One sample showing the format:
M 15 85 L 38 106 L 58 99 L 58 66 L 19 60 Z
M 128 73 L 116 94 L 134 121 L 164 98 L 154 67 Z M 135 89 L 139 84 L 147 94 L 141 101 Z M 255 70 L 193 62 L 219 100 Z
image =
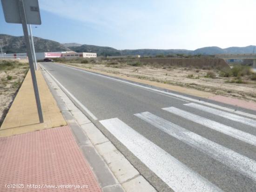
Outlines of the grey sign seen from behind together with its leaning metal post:
M 8 23 L 21 23 L 24 33 L 24 39 L 27 48 L 27 56 L 32 76 L 32 82 L 34 87 L 34 95 L 36 100 L 36 106 L 40 123 L 44 122 L 43 113 L 40 103 L 40 97 L 37 87 L 37 81 L 34 70 L 34 63 L 32 57 L 32 48 L 28 36 L 27 23 L 28 24 L 41 24 L 40 12 L 38 0 L 1 0 L 2 7 L 5 15 L 5 20 Z

